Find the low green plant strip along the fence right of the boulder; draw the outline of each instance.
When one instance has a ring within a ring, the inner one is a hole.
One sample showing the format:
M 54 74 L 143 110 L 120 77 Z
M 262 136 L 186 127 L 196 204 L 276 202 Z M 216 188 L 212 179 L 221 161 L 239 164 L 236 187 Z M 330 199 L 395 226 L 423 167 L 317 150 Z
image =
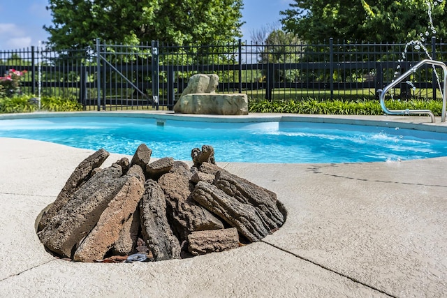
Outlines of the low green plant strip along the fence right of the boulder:
M 441 115 L 438 100 L 387 100 L 389 110 L 431 110 Z M 383 115 L 379 100 L 249 100 L 249 112 L 295 114 Z

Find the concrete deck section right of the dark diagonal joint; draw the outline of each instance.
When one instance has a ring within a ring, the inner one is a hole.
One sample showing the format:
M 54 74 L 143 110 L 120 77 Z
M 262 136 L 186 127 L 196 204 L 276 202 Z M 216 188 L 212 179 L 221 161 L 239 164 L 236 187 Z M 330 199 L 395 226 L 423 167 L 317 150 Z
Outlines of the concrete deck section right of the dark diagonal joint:
M 286 223 L 263 241 L 390 295 L 442 297 L 446 166 L 447 158 L 432 158 L 226 170 L 284 200 Z

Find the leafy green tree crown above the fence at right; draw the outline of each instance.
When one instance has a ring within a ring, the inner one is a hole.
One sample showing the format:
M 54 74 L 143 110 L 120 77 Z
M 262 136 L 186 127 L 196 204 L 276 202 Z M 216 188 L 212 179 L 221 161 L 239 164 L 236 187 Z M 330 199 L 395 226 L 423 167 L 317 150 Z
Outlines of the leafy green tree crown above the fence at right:
M 428 11 L 442 22 L 436 35 L 446 38 L 445 1 L 442 0 L 294 0 L 281 11 L 284 29 L 307 43 L 329 38 L 348 43 L 406 43 L 434 34 Z M 428 32 L 428 35 L 426 35 Z M 422 34 L 423 36 L 421 36 Z

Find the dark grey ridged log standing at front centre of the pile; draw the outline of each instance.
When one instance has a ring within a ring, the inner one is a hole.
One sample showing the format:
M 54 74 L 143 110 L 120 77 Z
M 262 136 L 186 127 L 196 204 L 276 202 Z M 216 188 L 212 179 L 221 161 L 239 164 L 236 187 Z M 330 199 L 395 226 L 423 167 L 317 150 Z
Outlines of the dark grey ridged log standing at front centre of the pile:
M 156 181 L 146 181 L 140 210 L 142 234 L 154 260 L 179 259 L 180 244 L 170 229 L 165 195 Z

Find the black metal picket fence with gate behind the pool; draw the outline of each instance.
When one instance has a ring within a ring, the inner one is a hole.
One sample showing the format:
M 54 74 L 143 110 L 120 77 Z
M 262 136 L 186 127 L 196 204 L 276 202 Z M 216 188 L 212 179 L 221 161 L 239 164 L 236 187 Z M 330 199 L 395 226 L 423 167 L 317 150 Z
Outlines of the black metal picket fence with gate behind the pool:
M 254 43 L 105 45 L 0 51 L 0 74 L 27 70 L 22 91 L 73 98 L 86 110 L 171 109 L 196 73 L 219 75 L 219 93 L 250 100 L 376 98 L 376 90 L 423 59 L 447 60 L 446 43 L 321 45 Z M 395 89 L 397 98 L 440 98 L 430 66 Z M 439 77 L 443 77 L 438 74 Z M 442 83 L 442 82 L 441 82 Z

